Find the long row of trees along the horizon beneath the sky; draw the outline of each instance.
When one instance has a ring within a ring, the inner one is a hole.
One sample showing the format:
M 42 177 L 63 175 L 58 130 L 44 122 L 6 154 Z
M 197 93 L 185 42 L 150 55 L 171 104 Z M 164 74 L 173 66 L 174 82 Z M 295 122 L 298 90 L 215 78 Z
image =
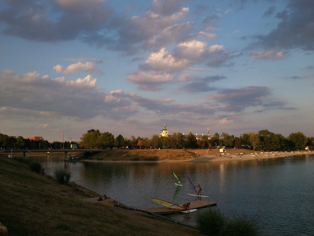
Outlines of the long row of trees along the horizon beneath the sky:
M 0 134 L 0 147 L 3 149 L 63 149 L 70 148 L 71 144 L 78 144 L 78 148 L 99 148 L 99 149 L 142 149 L 142 148 L 169 148 L 169 149 L 212 149 L 225 146 L 226 148 L 248 148 L 252 150 L 278 151 L 278 150 L 304 150 L 307 146 L 314 148 L 314 137 L 306 137 L 302 132 L 291 133 L 288 137 L 273 132 L 260 130 L 246 132 L 240 137 L 234 137 L 228 133 L 214 133 L 208 139 L 207 135 L 197 139 L 192 133 L 183 135 L 173 133 L 168 137 L 160 137 L 157 134 L 151 138 L 131 136 L 125 138 L 122 134 L 114 137 L 110 132 L 101 133 L 98 129 L 88 130 L 82 134 L 80 142 L 52 142 L 47 140 L 30 140 L 22 136 L 17 138 Z

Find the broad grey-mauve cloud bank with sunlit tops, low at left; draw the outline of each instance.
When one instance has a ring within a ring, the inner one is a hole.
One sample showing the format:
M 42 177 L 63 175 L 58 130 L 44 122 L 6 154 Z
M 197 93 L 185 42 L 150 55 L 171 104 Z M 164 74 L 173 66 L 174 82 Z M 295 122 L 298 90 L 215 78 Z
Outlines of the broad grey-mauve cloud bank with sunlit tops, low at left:
M 41 76 L 36 71 L 18 76 L 14 71 L 4 70 L 0 73 L 0 108 L 6 107 L 7 115 L 27 114 L 28 119 L 73 117 L 84 120 L 98 115 L 121 119 L 136 112 L 127 109 L 131 103 L 125 94 L 111 93 L 120 100 L 106 101 L 108 93 L 99 92 L 95 83 L 96 79 L 90 75 L 71 81 L 64 77 Z M 116 107 L 126 108 L 125 114 L 116 113 Z

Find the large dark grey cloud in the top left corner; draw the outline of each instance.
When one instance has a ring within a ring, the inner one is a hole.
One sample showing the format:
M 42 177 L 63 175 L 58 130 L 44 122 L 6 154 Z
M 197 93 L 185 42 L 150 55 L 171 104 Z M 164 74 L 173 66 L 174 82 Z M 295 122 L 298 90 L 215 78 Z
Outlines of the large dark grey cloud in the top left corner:
M 51 4 L 49 4 L 51 3 Z M 0 12 L 5 35 L 32 41 L 75 40 L 104 29 L 114 11 L 100 1 L 7 2 Z M 56 3 L 56 5 L 54 5 Z

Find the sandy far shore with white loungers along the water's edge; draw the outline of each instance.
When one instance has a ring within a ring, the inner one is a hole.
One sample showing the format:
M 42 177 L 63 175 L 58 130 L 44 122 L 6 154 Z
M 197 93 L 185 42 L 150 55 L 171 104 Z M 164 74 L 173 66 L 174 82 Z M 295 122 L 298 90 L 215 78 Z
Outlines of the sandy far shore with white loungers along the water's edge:
M 217 162 L 217 161 L 243 161 L 243 160 L 267 160 L 275 158 L 286 158 L 298 155 L 311 155 L 314 151 L 291 151 L 291 152 L 251 152 L 243 154 L 230 154 L 225 153 L 221 156 L 218 154 L 200 154 L 195 158 L 187 158 L 184 160 L 163 159 L 163 160 L 79 160 L 84 162 L 116 162 L 116 163 L 162 163 L 162 162 Z

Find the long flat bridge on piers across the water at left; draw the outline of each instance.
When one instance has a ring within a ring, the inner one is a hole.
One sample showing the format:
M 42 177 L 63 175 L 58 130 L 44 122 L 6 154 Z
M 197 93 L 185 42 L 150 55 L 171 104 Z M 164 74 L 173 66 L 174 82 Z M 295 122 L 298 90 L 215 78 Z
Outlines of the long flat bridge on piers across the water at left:
M 107 149 L 0 149 L 0 153 L 23 153 L 23 156 L 26 158 L 29 152 L 44 152 L 47 154 L 64 152 L 67 158 L 70 157 L 70 154 L 73 152 L 103 152 Z

